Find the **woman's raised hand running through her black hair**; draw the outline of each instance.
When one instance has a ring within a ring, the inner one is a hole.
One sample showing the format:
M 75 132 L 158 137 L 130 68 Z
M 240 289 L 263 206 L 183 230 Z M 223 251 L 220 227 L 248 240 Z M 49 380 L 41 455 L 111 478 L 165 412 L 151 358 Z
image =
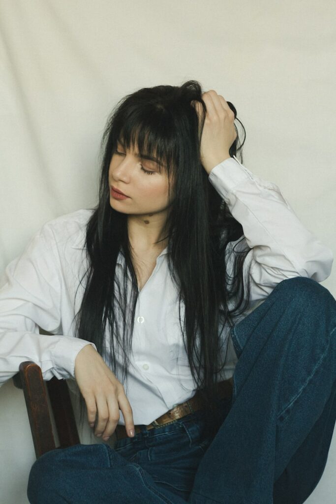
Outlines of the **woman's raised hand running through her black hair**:
M 219 163 L 230 157 L 229 150 L 237 138 L 234 127 L 235 114 L 223 98 L 211 89 L 202 93 L 207 115 L 200 141 L 200 158 L 208 175 Z M 193 101 L 198 120 L 203 112 L 200 102 Z

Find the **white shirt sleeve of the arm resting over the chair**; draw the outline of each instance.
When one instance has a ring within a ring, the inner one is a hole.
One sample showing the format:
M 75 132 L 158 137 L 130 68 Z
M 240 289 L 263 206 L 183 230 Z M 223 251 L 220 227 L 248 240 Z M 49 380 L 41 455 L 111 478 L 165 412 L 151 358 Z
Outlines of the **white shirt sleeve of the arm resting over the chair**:
M 26 360 L 41 367 L 44 380 L 75 379 L 77 354 L 96 346 L 61 334 L 61 265 L 51 226 L 7 266 L 0 285 L 0 386 Z M 39 328 L 55 334 L 39 334 Z

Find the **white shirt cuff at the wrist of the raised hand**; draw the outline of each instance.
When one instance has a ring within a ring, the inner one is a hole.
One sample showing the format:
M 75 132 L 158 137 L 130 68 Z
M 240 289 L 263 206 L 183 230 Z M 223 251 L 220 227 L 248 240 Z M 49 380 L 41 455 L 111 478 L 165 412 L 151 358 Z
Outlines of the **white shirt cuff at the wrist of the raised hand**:
M 253 174 L 238 161 L 236 156 L 219 163 L 209 175 L 209 181 L 224 199 L 240 182 L 251 179 Z

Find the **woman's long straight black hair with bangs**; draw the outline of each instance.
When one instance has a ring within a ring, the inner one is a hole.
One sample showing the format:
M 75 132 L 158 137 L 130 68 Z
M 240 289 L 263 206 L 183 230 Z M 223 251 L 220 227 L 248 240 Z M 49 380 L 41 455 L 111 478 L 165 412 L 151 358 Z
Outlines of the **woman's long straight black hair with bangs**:
M 237 240 L 239 243 L 244 235 L 241 224 L 210 183 L 200 161 L 200 138 L 207 112 L 202 92 L 201 85 L 194 80 L 181 86 L 143 88 L 120 100 L 109 116 L 101 142 L 99 203 L 86 230 L 89 266 L 81 279 L 85 288 L 76 324 L 78 336 L 95 343 L 112 372 L 118 374 L 127 396 L 128 357 L 139 290 L 130 254 L 127 214 L 111 207 L 108 179 L 111 157 L 117 149 L 117 140 L 122 138 L 125 149 L 155 155 L 164 161 L 168 177 L 171 174 L 174 177 L 174 199 L 166 225 L 166 257 L 178 292 L 181 343 L 188 355 L 195 389 L 207 404 L 207 432 L 214 435 L 220 426 L 216 414 L 218 373 L 227 353 L 226 347 L 224 355 L 221 334 L 224 325 L 232 327 L 235 317 L 249 305 L 249 287 L 244 295 L 249 275 L 243 278 L 243 263 L 250 248 L 231 250 L 234 274 L 230 276 L 227 245 Z M 203 107 L 200 129 L 192 101 Z M 228 104 L 237 119 L 235 107 Z M 239 154 L 243 162 L 245 129 L 240 124 L 243 141 L 235 125 L 237 138 L 229 154 L 231 157 Z M 119 252 L 125 262 L 121 282 L 115 275 Z M 184 303 L 184 321 L 181 303 Z M 80 403 L 82 418 L 85 409 L 82 396 Z

